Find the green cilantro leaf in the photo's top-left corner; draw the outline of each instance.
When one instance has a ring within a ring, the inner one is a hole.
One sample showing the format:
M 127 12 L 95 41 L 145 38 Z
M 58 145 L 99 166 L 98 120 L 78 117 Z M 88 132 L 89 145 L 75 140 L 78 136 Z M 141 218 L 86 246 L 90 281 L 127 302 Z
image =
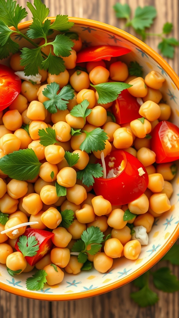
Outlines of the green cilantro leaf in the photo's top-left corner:
M 0 1 L 0 20 L 3 20 L 8 26 L 14 26 L 18 29 L 18 23 L 27 16 L 25 8 L 19 7 L 17 1 L 1 0 Z

